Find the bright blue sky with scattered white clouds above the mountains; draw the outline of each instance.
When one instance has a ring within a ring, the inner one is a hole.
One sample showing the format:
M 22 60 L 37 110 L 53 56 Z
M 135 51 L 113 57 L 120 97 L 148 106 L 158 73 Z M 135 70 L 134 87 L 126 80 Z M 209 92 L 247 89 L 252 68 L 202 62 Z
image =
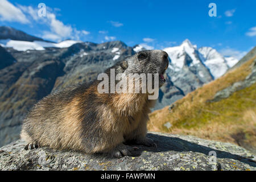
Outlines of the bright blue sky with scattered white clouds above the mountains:
M 47 6 L 39 17 L 38 4 Z M 217 5 L 210 17 L 209 3 Z M 122 40 L 162 49 L 189 39 L 240 58 L 256 44 L 256 1 L 48 1 L 0 0 L 0 25 L 59 42 Z

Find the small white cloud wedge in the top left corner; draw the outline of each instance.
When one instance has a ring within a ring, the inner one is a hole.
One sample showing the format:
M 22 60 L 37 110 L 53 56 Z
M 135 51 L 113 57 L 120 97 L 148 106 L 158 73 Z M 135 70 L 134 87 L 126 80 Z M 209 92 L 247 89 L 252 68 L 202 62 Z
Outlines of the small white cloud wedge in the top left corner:
M 0 20 L 19 23 L 30 23 L 22 11 L 6 0 L 0 0 Z

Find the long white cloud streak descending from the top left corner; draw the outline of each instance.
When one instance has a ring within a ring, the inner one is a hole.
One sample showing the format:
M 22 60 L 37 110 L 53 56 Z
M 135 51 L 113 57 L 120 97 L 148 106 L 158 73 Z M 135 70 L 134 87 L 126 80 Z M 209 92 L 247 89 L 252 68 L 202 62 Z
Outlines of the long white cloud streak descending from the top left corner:
M 80 40 L 81 36 L 90 34 L 90 32 L 86 30 L 77 30 L 58 20 L 55 12 L 60 11 L 60 9 L 51 9 L 51 7 L 48 6 L 46 9 L 46 17 L 40 17 L 38 16 L 37 7 L 34 8 L 32 6 L 23 5 L 14 6 L 6 0 L 0 0 L 0 20 L 44 24 L 49 30 L 44 30 L 41 33 L 42 38 L 54 41 L 61 41 L 68 38 Z

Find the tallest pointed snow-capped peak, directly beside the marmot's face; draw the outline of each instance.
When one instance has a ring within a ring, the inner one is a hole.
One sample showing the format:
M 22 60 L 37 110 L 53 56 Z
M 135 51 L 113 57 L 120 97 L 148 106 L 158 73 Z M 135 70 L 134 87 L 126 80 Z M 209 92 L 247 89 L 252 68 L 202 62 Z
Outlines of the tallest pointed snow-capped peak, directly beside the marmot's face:
M 188 39 L 180 46 L 163 49 L 170 57 L 166 71 L 167 82 L 160 88 L 159 100 L 155 109 L 170 105 L 189 92 L 212 81 L 214 78 L 200 59 L 200 53 Z

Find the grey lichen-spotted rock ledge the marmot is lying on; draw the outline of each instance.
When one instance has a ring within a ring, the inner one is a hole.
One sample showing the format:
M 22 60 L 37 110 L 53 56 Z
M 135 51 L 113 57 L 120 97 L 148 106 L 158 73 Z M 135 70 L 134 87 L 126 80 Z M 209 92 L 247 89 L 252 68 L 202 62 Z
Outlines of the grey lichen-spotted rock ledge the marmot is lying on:
M 234 144 L 162 133 L 148 133 L 148 137 L 155 140 L 157 148 L 137 146 L 133 156 L 121 159 L 48 147 L 26 151 L 25 143 L 17 140 L 0 148 L 0 170 L 256 169 L 256 157 Z

